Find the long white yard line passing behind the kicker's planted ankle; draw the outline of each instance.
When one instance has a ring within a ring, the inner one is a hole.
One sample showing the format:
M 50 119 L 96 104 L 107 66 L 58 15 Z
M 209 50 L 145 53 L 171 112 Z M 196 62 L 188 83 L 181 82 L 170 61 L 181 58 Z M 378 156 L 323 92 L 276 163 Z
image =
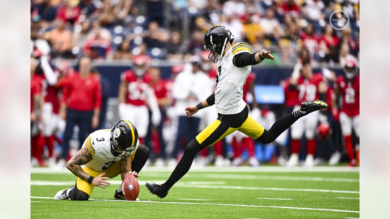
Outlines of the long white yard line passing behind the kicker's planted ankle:
M 121 180 L 110 180 L 112 185 L 120 185 Z M 138 181 L 142 186 L 145 182 L 150 181 Z M 153 181 L 160 183 L 159 181 Z M 206 189 L 244 189 L 244 190 L 271 190 L 271 191 L 299 191 L 299 192 L 322 192 L 322 193 L 360 193 L 359 191 L 343 191 L 343 190 L 329 190 L 329 189 L 298 189 L 298 188 L 274 188 L 274 187 L 245 187 L 245 186 L 229 186 L 229 185 L 202 185 L 204 182 L 179 182 L 175 184 L 175 187 L 190 187 L 190 188 L 206 188 Z M 55 181 L 31 181 L 31 185 L 73 185 L 74 181 L 55 182 Z

